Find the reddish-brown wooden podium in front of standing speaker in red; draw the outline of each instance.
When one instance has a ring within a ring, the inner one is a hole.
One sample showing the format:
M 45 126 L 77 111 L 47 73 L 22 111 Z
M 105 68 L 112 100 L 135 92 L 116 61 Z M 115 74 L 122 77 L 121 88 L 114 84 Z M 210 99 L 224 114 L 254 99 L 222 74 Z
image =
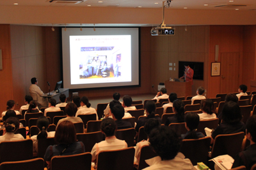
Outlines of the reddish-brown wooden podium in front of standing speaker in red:
M 176 93 L 178 97 L 185 96 L 192 96 L 192 82 L 180 82 L 180 81 L 165 81 L 165 89 L 167 90 L 168 94 Z

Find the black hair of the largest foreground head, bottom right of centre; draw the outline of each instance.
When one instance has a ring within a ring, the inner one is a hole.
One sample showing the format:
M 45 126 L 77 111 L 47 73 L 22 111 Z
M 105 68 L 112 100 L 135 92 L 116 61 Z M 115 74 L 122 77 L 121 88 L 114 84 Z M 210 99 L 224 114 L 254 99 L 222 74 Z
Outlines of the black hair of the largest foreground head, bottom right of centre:
M 159 126 L 149 136 L 150 146 L 162 160 L 174 159 L 180 149 L 180 139 L 170 127 Z

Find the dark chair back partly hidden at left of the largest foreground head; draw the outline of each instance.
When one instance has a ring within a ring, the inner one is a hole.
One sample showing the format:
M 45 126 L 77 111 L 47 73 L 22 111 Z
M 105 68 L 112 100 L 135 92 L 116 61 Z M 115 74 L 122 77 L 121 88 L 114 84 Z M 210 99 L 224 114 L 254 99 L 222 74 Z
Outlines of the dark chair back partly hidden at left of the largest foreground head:
M 145 160 L 151 159 L 156 156 L 157 156 L 156 152 L 154 152 L 150 148 L 150 146 L 147 146 L 147 145 L 142 146 L 140 149 L 140 160 L 138 164 L 138 170 L 148 167 L 148 164 L 145 162 Z

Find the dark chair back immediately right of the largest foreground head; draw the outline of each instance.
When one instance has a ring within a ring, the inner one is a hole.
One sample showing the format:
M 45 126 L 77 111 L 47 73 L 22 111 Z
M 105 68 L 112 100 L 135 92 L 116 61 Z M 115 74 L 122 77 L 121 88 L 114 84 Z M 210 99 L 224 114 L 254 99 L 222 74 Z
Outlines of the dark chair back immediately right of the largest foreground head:
M 211 137 L 200 139 L 183 139 L 180 147 L 180 152 L 190 159 L 193 166 L 197 162 L 208 163 L 208 152 L 211 145 Z M 195 154 L 196 153 L 196 154 Z

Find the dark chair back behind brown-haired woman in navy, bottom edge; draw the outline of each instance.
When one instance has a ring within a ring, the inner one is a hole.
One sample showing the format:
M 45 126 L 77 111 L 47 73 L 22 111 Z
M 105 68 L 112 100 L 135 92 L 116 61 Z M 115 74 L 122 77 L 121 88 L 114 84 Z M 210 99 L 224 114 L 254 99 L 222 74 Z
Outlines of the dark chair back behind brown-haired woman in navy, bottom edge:
M 89 152 L 76 155 L 55 156 L 51 159 L 51 170 L 91 169 L 92 155 Z

